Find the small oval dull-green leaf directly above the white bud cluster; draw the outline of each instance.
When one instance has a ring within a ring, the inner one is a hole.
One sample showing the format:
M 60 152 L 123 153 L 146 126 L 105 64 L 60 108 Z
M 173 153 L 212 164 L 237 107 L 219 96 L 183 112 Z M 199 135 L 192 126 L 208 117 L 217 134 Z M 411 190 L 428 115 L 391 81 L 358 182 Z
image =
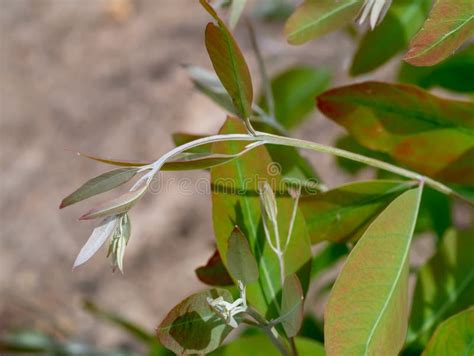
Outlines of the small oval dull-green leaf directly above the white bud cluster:
M 257 261 L 250 251 L 247 238 L 237 226 L 229 237 L 227 266 L 230 275 L 243 284 L 253 283 L 258 279 Z

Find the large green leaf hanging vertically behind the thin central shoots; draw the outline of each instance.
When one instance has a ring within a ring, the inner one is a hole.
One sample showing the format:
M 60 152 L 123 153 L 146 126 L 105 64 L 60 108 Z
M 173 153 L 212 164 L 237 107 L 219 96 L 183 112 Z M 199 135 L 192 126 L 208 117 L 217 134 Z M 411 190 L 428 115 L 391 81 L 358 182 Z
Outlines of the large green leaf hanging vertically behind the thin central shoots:
M 221 134 L 243 133 L 243 124 L 228 118 Z M 244 143 L 219 142 L 214 144 L 216 152 L 233 154 L 242 149 Z M 243 157 L 226 165 L 211 169 L 212 211 L 217 247 L 227 262 L 228 238 L 238 225 L 248 239 L 253 255 L 259 267 L 259 283 L 247 287 L 249 303 L 268 318 L 279 315 L 279 292 L 281 291 L 278 258 L 266 244 L 258 195 L 259 182 L 266 180 L 280 192 L 277 196 L 280 236 L 286 236 L 289 229 L 293 199 L 284 194 L 286 186 L 281 176 L 269 173 L 272 160 L 265 147 L 258 147 Z M 285 254 L 287 274 L 297 273 L 303 290 L 307 290 L 311 262 L 311 250 L 303 216 L 298 213 L 294 224 L 293 236 Z

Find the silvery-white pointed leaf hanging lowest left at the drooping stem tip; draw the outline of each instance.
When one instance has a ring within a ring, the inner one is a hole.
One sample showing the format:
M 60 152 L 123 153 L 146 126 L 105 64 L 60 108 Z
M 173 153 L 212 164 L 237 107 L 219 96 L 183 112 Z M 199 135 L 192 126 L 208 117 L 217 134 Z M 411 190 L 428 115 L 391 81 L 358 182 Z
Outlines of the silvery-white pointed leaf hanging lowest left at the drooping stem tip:
M 102 220 L 99 226 L 92 231 L 92 235 L 82 247 L 76 261 L 74 262 L 73 268 L 87 262 L 99 250 L 99 248 L 102 247 L 105 241 L 107 241 L 107 239 L 114 233 L 118 221 L 119 217 L 117 215 L 109 216 Z

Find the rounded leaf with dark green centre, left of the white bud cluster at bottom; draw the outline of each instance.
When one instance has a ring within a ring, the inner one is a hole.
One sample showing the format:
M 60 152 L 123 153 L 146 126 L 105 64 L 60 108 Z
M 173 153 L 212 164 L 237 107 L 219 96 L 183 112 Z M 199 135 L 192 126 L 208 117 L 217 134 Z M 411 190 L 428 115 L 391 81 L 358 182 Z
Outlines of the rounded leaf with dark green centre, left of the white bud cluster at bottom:
M 206 354 L 218 348 L 232 330 L 207 301 L 218 297 L 232 302 L 229 291 L 211 289 L 176 305 L 156 329 L 161 344 L 178 355 Z

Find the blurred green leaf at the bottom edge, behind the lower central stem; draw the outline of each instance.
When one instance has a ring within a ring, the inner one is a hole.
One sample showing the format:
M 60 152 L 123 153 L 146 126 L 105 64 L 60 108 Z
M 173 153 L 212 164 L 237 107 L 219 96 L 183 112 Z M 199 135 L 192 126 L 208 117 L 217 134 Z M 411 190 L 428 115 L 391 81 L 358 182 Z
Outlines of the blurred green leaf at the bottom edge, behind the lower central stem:
M 324 356 L 324 347 L 310 339 L 297 337 L 296 349 L 299 356 Z M 278 349 L 273 346 L 266 335 L 252 335 L 240 337 L 211 354 L 211 356 L 273 356 L 278 355 Z

